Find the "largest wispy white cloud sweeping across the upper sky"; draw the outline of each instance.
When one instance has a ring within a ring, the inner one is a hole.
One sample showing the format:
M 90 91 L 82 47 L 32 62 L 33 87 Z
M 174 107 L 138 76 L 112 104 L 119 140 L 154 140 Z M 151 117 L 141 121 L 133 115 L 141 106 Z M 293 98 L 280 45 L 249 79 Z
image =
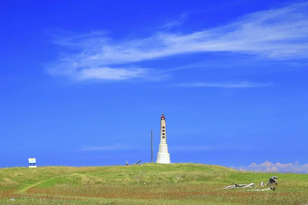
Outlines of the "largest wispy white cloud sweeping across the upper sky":
M 298 3 L 259 11 L 228 25 L 191 33 L 157 32 L 146 38 L 115 40 L 97 31 L 57 38 L 55 44 L 71 50 L 48 71 L 76 80 L 123 80 L 155 74 L 128 64 L 180 54 L 233 52 L 274 59 L 307 58 L 307 7 L 308 3 Z

